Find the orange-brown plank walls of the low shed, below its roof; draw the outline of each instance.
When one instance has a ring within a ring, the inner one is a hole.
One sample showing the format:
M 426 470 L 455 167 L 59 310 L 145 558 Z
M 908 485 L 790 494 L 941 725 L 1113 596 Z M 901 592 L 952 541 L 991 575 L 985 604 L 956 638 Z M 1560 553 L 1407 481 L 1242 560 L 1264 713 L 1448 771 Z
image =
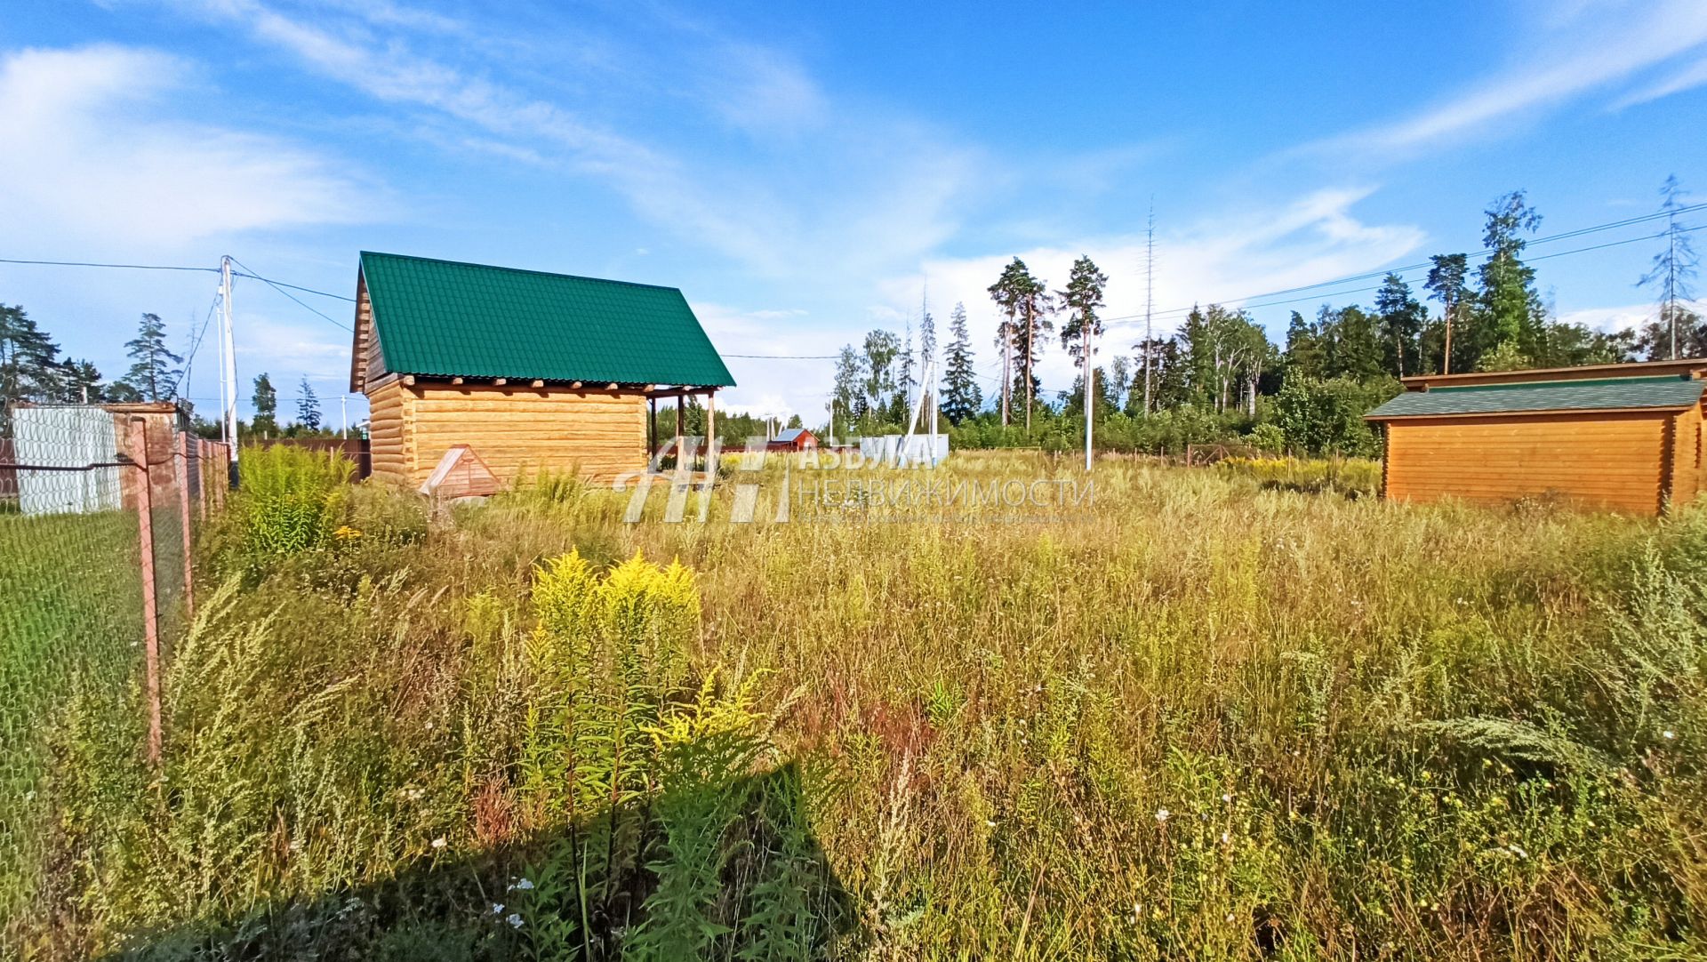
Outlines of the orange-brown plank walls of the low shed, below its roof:
M 1396 420 L 1388 425 L 1386 496 L 1504 503 L 1557 493 L 1654 515 L 1673 474 L 1663 464 L 1673 418 L 1618 411 Z

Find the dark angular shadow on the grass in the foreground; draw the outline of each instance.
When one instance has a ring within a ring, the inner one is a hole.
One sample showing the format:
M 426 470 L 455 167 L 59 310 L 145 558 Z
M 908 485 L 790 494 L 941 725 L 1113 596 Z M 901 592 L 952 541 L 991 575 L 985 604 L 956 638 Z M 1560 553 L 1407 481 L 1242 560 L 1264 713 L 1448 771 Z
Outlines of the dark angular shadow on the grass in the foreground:
M 833 959 L 862 940 L 794 762 L 720 791 L 732 817 L 652 803 L 237 918 L 137 933 L 109 960 Z

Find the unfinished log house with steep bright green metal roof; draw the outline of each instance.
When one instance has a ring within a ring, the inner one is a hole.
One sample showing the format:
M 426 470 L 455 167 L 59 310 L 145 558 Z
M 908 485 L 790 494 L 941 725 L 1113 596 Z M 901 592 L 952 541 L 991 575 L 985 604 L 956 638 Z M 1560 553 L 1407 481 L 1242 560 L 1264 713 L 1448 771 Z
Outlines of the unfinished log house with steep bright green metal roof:
M 609 481 L 645 469 L 659 399 L 710 418 L 732 384 L 673 287 L 362 252 L 350 391 L 376 478 L 420 484 L 468 445 L 500 481 Z

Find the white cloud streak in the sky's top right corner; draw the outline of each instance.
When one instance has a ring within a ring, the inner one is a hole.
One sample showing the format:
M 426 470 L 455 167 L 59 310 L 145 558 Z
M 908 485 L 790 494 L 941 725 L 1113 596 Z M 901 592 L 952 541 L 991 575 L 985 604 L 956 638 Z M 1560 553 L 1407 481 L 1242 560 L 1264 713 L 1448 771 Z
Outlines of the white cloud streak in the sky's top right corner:
M 1381 154 L 1436 148 L 1442 142 L 1492 130 L 1499 121 L 1558 106 L 1707 43 L 1707 3 L 1577 3 L 1548 27 L 1519 48 L 1516 67 L 1398 123 L 1335 136 L 1306 150 Z

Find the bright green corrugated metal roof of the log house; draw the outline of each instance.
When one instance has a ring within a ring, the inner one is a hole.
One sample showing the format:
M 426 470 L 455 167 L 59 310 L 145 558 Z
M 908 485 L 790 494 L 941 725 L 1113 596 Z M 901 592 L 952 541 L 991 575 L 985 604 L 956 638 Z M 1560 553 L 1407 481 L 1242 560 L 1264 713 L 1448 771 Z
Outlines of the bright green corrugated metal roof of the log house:
M 732 385 L 673 287 L 362 251 L 386 370 Z

